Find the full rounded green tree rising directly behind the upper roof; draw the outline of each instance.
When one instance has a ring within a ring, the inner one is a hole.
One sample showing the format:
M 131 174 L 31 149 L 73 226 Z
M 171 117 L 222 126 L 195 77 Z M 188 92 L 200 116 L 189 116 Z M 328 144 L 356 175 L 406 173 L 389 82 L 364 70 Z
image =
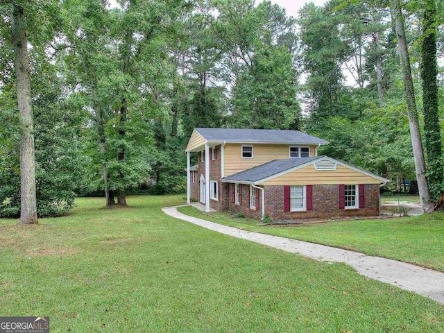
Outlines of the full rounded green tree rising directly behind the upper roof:
M 259 45 L 233 91 L 234 127 L 298 129 L 296 74 L 284 47 Z

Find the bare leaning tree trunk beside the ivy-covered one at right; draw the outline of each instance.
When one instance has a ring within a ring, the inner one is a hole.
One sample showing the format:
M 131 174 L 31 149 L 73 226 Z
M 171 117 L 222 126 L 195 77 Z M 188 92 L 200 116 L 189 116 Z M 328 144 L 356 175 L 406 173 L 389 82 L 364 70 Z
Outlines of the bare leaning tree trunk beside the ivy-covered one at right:
M 413 160 L 415 162 L 416 180 L 418 181 L 418 191 L 423 212 L 432 212 L 435 205 L 430 202 L 429 185 L 425 178 L 425 160 L 422 151 L 422 142 L 419 130 L 418 109 L 416 108 L 415 92 L 413 90 L 413 80 L 411 78 L 409 50 L 407 48 L 407 38 L 404 30 L 404 17 L 402 17 L 401 1 L 391 0 L 393 6 L 393 19 L 395 21 L 396 37 L 398 38 L 398 48 L 400 52 L 400 62 L 402 67 L 402 80 L 404 82 L 404 96 L 407 102 L 407 112 L 409 114 L 409 128 L 411 145 L 413 147 Z

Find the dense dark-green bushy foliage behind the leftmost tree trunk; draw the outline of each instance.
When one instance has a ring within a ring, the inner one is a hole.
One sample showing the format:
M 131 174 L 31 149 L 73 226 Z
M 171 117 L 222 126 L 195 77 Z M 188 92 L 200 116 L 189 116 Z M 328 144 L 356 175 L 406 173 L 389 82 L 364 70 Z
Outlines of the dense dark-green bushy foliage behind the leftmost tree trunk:
M 60 81 L 51 76 L 50 65 L 42 67 L 37 73 L 44 71 L 46 76 L 37 75 L 33 80 L 37 214 L 60 216 L 74 206 L 74 189 L 78 187 L 81 115 L 60 103 Z M 0 96 L 4 98 L 7 94 Z M 11 107 L 15 105 L 15 96 L 6 103 Z M 18 217 L 20 214 L 18 118 L 15 109 L 11 111 L 0 114 L 1 122 L 9 126 L 9 139 L 2 140 L 1 145 L 0 179 L 5 186 L 0 187 L 0 217 Z

